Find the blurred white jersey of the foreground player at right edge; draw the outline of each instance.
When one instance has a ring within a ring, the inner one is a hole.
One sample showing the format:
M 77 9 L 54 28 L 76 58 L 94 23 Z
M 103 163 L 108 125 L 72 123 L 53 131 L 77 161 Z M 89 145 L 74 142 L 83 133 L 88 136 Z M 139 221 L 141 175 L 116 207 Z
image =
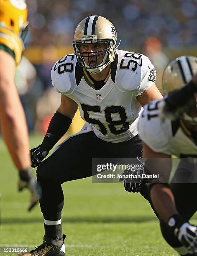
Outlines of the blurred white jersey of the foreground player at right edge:
M 197 155 L 197 145 L 187 134 L 181 120 L 161 120 L 159 108 L 161 101 L 154 100 L 144 106 L 138 122 L 139 135 L 153 151 L 178 157 Z

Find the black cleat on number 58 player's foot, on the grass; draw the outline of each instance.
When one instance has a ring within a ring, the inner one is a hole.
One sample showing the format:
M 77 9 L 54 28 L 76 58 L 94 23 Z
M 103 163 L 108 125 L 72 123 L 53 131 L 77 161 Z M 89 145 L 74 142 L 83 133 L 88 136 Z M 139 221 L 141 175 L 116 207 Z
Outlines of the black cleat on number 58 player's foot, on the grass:
M 44 236 L 43 243 L 36 247 L 36 249 L 26 252 L 20 253 L 18 256 L 65 256 L 65 246 L 64 246 L 64 239 L 66 238 L 63 235 L 61 240 L 58 239 L 51 239 Z

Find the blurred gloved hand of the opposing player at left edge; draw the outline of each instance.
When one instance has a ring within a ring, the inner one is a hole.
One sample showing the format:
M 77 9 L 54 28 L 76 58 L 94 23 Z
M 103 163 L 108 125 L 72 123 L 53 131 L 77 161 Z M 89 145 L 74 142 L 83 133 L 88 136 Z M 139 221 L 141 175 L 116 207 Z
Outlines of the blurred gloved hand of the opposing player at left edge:
M 33 176 L 31 170 L 20 171 L 19 172 L 20 180 L 18 182 L 18 191 L 23 191 L 24 188 L 27 188 L 31 194 L 30 205 L 28 211 L 31 211 L 33 207 L 38 203 L 39 198 L 41 197 L 41 187 L 37 183 L 36 179 Z

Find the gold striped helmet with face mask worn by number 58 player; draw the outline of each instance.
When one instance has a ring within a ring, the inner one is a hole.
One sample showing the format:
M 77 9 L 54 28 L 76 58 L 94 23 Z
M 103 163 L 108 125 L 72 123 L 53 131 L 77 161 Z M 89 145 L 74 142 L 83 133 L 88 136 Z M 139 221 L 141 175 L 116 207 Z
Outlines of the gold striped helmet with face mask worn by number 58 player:
M 87 69 L 90 73 L 99 73 L 108 64 L 110 64 L 115 58 L 115 49 L 117 33 L 113 24 L 101 16 L 92 15 L 82 20 L 76 28 L 74 33 L 74 53 L 77 56 L 79 66 Z M 106 44 L 107 48 L 102 51 L 93 51 L 91 55 L 89 52 L 82 52 L 82 44 Z M 96 63 L 95 66 L 90 65 L 90 56 L 94 54 Z M 102 63 L 97 64 L 97 57 L 103 56 Z M 84 57 L 88 58 L 88 63 L 84 60 Z

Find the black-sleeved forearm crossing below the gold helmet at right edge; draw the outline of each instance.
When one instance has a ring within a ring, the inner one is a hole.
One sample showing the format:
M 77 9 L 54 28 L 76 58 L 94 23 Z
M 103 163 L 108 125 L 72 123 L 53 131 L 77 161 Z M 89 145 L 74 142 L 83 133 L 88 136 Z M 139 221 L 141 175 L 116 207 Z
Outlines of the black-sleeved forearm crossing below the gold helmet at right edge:
M 191 81 L 186 86 L 182 87 L 181 90 L 171 92 L 165 99 L 165 102 L 167 106 L 173 110 L 184 106 L 190 98 L 194 96 L 195 92 L 197 92 L 197 85 Z

